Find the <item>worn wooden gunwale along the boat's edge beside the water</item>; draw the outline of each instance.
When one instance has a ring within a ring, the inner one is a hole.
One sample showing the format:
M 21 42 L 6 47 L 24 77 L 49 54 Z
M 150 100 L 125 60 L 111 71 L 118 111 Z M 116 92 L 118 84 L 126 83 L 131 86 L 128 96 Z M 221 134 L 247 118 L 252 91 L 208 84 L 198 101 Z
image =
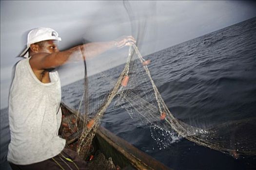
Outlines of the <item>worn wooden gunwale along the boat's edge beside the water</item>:
M 71 114 L 75 114 L 76 111 L 74 109 L 69 108 L 66 104 L 61 102 L 62 107 L 67 109 Z M 76 115 L 76 114 L 75 114 Z M 73 141 L 74 142 L 74 141 Z M 102 142 L 105 142 L 110 150 L 110 147 L 113 148 L 112 152 L 106 152 L 106 148 L 103 148 Z M 119 156 L 123 156 L 122 159 L 126 159 L 130 165 L 137 170 L 171 170 L 166 167 L 164 164 L 148 155 L 140 151 L 138 148 L 127 142 L 126 140 L 116 136 L 106 128 L 99 126 L 94 137 L 93 144 L 98 143 L 98 148 L 100 152 L 102 152 L 107 157 L 114 157 L 114 154 L 120 154 Z M 120 158 L 121 159 L 121 158 Z M 118 162 L 118 160 L 113 159 L 113 162 L 116 165 L 120 165 L 122 163 Z

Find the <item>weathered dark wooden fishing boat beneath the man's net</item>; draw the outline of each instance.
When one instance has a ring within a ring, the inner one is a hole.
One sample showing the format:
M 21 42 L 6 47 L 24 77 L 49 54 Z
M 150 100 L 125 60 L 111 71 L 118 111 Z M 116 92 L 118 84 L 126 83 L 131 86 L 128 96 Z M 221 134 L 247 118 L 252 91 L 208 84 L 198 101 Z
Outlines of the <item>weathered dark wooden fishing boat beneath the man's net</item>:
M 79 133 L 73 127 L 70 127 L 72 122 L 74 124 L 75 111 L 68 108 L 64 103 L 61 103 L 61 110 L 63 116 L 59 133 L 66 138 L 67 144 L 72 148 L 79 136 Z M 111 157 L 114 164 L 118 165 L 121 170 L 170 170 L 153 157 L 141 152 L 104 127 L 98 128 L 93 139 L 93 148 L 95 151 L 99 150 L 103 153 L 106 158 Z

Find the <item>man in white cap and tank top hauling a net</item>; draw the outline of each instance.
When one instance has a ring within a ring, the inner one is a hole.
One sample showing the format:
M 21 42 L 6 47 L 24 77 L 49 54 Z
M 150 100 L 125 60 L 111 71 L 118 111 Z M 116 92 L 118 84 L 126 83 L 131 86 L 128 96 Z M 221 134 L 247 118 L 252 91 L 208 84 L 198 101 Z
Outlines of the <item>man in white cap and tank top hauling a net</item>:
M 9 95 L 11 142 L 7 159 L 14 170 L 86 169 L 86 162 L 65 147 L 58 136 L 61 122 L 61 87 L 56 70 L 69 60 L 90 58 L 111 48 L 135 43 L 132 36 L 120 41 L 88 43 L 59 51 L 58 33 L 51 28 L 29 32 L 27 48 Z

